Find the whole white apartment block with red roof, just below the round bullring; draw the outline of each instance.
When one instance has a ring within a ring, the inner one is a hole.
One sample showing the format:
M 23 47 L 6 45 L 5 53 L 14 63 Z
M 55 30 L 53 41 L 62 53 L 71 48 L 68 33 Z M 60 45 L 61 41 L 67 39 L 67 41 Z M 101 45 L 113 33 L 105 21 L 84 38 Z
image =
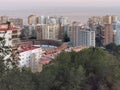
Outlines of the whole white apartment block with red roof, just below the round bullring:
M 21 46 L 19 47 L 19 67 L 37 68 L 38 62 L 42 56 L 42 48 L 37 46 Z

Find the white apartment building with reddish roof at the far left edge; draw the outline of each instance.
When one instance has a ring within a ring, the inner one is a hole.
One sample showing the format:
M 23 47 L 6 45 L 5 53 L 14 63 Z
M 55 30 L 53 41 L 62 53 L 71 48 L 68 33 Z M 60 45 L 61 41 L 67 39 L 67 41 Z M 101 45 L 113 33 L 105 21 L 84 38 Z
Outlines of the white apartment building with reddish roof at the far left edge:
M 1 24 L 0 37 L 5 38 L 5 46 L 15 46 L 20 43 L 21 29 L 14 25 Z

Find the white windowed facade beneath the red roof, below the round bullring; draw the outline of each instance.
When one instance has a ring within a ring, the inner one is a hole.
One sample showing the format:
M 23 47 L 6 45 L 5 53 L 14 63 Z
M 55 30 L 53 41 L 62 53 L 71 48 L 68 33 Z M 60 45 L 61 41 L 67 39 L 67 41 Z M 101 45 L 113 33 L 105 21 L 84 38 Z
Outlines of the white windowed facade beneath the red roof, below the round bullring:
M 19 57 L 19 67 L 31 67 L 34 68 L 35 63 L 38 63 L 42 55 L 42 49 L 36 48 L 33 50 L 28 50 L 21 52 Z

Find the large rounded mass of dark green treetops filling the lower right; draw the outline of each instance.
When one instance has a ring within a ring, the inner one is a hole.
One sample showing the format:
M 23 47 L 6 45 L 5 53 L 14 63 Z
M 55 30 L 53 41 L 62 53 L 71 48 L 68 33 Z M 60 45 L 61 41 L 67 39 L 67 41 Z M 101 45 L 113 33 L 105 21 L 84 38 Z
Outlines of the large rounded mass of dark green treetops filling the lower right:
M 119 60 L 100 48 L 62 52 L 40 74 L 41 90 L 119 90 Z

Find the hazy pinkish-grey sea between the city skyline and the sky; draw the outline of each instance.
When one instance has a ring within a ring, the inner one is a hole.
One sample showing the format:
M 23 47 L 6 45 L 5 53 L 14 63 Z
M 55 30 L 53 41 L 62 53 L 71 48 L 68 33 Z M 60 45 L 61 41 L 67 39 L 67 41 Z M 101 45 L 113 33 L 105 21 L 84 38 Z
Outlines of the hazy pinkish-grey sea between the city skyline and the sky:
M 86 23 L 91 16 L 116 15 L 120 16 L 120 7 L 41 7 L 37 9 L 0 10 L 0 16 L 23 18 L 27 24 L 27 17 L 31 14 L 38 16 L 65 16 L 71 21 Z

